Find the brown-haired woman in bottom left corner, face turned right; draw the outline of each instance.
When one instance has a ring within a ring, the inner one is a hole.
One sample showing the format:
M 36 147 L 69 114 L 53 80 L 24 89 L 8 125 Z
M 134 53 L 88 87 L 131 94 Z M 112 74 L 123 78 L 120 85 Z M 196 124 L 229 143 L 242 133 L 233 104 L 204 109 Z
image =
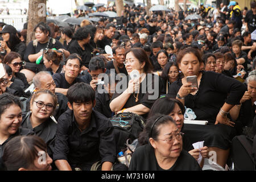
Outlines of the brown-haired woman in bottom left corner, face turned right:
M 41 156 L 46 156 L 46 163 L 42 162 Z M 51 171 L 52 169 L 52 159 L 47 154 L 46 142 L 35 135 L 11 139 L 3 151 L 3 163 L 7 171 Z

